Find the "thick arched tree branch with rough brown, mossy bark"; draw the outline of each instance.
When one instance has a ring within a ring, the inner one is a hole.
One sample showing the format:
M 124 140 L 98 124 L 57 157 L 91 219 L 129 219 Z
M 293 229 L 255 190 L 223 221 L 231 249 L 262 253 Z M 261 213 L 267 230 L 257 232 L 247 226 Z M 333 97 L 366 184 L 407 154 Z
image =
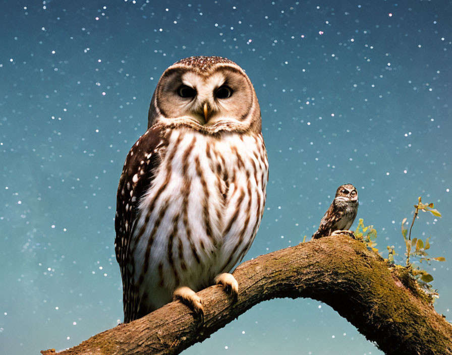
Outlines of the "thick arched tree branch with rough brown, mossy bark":
M 326 303 L 388 355 L 452 354 L 452 325 L 404 269 L 387 268 L 378 254 L 348 236 L 262 255 L 238 266 L 234 276 L 239 282 L 234 303 L 218 285 L 198 292 L 202 325 L 185 305 L 173 302 L 58 354 L 178 354 L 259 302 L 284 297 Z

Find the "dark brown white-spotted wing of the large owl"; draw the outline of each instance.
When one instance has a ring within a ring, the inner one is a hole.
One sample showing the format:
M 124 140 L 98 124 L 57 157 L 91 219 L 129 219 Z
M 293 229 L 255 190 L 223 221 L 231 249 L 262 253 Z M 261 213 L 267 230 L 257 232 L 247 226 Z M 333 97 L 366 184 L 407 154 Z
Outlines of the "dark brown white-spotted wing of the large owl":
M 130 240 L 133 235 L 137 206 L 153 180 L 154 168 L 158 165 L 158 148 L 161 143 L 160 130 L 151 127 L 130 149 L 124 163 L 118 185 L 115 218 L 116 260 L 121 269 L 123 280 L 124 322 L 130 321 L 138 310 L 136 295 L 131 283 L 133 262 L 129 254 Z

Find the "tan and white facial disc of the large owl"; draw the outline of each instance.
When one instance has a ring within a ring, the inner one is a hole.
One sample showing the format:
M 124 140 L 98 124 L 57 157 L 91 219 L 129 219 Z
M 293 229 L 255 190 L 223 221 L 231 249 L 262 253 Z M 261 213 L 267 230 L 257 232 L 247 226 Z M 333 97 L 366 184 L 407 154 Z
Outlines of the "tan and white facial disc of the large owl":
M 201 125 L 206 130 L 246 128 L 254 91 L 235 68 L 220 66 L 208 73 L 175 68 L 161 79 L 156 99 L 162 116 L 175 123 Z

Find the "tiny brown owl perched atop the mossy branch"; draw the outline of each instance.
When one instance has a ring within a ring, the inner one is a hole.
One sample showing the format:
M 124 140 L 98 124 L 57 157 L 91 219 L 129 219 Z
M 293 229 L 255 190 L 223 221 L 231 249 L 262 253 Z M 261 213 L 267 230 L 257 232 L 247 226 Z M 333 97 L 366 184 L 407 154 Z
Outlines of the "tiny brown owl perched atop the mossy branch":
M 319 229 L 312 235 L 313 239 L 341 233 L 351 234 L 348 230 L 358 212 L 358 192 L 352 184 L 337 188 L 333 202 L 320 221 Z

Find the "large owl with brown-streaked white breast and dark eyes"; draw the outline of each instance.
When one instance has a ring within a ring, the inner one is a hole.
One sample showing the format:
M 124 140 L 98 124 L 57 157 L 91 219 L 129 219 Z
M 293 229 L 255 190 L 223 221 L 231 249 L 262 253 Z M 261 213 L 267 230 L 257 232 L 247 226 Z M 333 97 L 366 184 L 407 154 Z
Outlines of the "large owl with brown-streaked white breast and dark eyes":
M 116 258 L 124 322 L 222 284 L 254 240 L 268 161 L 250 79 L 215 56 L 183 59 L 161 76 L 148 130 L 131 148 L 118 187 Z

